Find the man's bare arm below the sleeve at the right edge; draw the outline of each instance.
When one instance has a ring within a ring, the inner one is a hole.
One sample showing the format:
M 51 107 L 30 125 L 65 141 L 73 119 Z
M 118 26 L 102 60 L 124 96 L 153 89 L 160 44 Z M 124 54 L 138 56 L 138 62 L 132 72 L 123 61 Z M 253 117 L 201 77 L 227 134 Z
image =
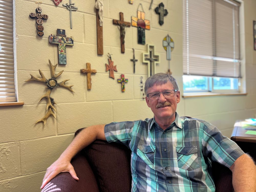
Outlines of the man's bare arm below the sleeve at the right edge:
M 243 154 L 229 168 L 234 191 L 256 192 L 256 166 L 252 158 Z

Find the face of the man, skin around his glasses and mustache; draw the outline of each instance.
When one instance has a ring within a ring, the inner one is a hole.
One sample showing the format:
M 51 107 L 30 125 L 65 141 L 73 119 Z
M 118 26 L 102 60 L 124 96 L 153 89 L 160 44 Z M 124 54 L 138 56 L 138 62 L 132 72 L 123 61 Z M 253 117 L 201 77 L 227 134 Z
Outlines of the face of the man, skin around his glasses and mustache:
M 166 90 L 173 90 L 173 85 L 169 81 L 165 84 L 154 84 L 153 87 L 148 88 L 148 93 L 153 92 L 163 92 Z M 174 121 L 175 120 L 175 112 L 177 109 L 177 103 L 180 101 L 180 92 L 177 91 L 174 93 L 174 96 L 171 98 L 165 98 L 163 94 L 160 94 L 159 98 L 156 100 L 149 100 L 146 97 L 147 106 L 151 108 L 152 112 L 155 115 L 156 121 Z M 168 106 L 165 107 L 157 107 L 157 105 L 161 105 L 164 103 L 169 103 Z

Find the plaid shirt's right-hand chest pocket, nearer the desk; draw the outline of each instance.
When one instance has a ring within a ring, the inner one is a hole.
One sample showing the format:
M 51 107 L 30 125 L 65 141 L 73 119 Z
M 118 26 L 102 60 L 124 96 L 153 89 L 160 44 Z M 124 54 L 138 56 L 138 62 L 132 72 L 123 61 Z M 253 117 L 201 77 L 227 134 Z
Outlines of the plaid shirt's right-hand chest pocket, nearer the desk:
M 188 171 L 199 168 L 197 146 L 176 147 L 178 167 Z

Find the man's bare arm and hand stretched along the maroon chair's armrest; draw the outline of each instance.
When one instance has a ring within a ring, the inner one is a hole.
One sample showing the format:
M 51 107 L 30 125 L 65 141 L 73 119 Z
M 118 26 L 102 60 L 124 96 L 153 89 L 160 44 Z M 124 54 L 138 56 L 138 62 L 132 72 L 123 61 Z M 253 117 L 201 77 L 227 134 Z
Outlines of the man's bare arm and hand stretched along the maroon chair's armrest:
M 70 175 L 79 180 L 73 166 L 71 165 L 71 159 L 84 147 L 90 145 L 96 139 L 105 140 L 104 134 L 105 125 L 94 125 L 83 129 L 70 143 L 67 149 L 60 155 L 50 167 L 47 168 L 45 173 L 41 189 L 61 172 L 69 172 Z

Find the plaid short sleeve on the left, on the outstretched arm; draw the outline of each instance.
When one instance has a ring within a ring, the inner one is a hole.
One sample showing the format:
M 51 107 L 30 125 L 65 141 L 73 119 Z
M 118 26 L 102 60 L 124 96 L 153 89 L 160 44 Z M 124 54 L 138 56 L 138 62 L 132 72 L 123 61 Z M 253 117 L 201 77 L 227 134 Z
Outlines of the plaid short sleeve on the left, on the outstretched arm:
M 109 143 L 117 142 L 129 148 L 133 126 L 133 121 L 124 121 L 118 123 L 112 122 L 110 124 L 106 124 L 104 127 L 106 140 Z

